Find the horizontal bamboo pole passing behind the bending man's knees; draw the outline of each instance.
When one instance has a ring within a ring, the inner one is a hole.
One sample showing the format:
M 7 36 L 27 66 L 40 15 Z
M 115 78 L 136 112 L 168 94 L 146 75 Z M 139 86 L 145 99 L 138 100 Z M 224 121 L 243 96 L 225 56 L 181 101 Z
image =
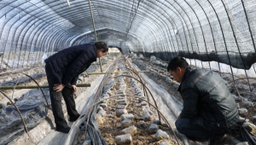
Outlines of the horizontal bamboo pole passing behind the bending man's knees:
M 77 84 L 77 87 L 90 87 L 90 84 Z M 14 89 L 37 89 L 38 85 L 17 85 L 17 86 L 1 86 L 0 90 L 14 90 Z M 49 88 L 49 85 L 40 85 L 40 88 Z

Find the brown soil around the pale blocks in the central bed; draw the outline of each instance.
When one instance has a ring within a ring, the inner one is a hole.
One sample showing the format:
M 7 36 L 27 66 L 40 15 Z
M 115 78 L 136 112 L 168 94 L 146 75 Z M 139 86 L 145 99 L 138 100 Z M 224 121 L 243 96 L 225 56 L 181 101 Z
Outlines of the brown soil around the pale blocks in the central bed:
M 131 85 L 130 78 L 124 78 L 125 84 L 126 84 L 126 95 L 136 95 L 135 90 L 133 89 Z M 119 90 L 119 83 L 117 83 L 112 90 L 112 94 L 117 94 L 117 91 Z M 107 107 L 107 114 L 102 123 L 99 122 L 99 130 L 102 133 L 102 136 L 104 137 L 105 141 L 109 145 L 116 145 L 115 136 L 119 136 L 121 131 L 121 119 L 115 115 L 115 106 L 116 106 L 116 99 L 109 99 L 108 100 L 108 107 Z M 132 113 L 134 115 L 134 119 L 132 120 L 132 125 L 135 125 L 137 127 L 137 134 L 135 136 L 132 136 L 132 143 L 134 145 L 159 145 L 160 142 L 157 142 L 155 139 L 155 134 L 148 134 L 148 127 L 151 125 L 151 122 L 144 122 L 141 105 L 138 102 L 137 99 L 135 99 L 132 96 L 127 96 L 127 101 L 129 102 L 126 109 L 128 110 L 128 113 Z M 157 113 L 156 110 L 151 108 L 153 111 L 154 119 L 157 119 Z M 166 125 L 160 125 L 160 130 L 166 131 L 169 136 L 171 137 L 170 143 L 173 145 L 177 144 L 175 141 L 175 138 L 172 134 L 172 130 Z M 73 142 L 73 145 L 82 145 L 85 140 L 84 133 L 79 133 L 76 136 L 75 142 Z

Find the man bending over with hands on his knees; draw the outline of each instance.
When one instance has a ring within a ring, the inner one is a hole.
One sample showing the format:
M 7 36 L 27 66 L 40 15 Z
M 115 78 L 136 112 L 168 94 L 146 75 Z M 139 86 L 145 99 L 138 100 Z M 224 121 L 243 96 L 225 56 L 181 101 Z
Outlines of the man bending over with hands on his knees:
M 80 44 L 62 49 L 44 61 L 46 63 L 45 72 L 49 83 L 49 96 L 55 117 L 56 131 L 63 133 L 70 131 L 62 112 L 62 97 L 66 102 L 69 121 L 77 120 L 80 115 L 76 110 L 73 93 L 77 91 L 76 84 L 79 74 L 90 67 L 90 64 L 96 61 L 96 58 L 100 58 L 107 53 L 108 45 L 103 42 Z

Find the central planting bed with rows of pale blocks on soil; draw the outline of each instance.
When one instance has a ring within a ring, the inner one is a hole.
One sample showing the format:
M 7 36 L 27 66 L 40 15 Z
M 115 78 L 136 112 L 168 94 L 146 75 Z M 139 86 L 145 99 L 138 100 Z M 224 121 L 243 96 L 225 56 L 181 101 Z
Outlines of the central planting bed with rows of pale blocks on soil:
M 177 144 L 171 128 L 160 125 L 157 110 L 134 97 L 147 100 L 133 78 L 119 78 L 108 96 L 116 97 L 103 101 L 95 115 L 98 128 L 108 144 Z M 82 145 L 85 140 L 85 133 L 79 133 L 73 145 Z

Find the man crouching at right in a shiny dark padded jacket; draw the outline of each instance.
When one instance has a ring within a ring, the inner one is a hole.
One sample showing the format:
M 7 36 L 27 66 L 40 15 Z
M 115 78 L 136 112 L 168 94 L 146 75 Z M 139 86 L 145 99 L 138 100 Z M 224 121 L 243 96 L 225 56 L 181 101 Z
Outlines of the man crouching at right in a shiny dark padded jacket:
M 175 125 L 177 131 L 194 141 L 224 144 L 238 122 L 236 102 L 224 80 L 208 70 L 192 69 L 182 57 L 173 58 L 167 71 L 180 83 L 183 110 Z

